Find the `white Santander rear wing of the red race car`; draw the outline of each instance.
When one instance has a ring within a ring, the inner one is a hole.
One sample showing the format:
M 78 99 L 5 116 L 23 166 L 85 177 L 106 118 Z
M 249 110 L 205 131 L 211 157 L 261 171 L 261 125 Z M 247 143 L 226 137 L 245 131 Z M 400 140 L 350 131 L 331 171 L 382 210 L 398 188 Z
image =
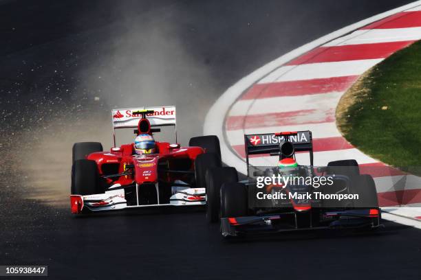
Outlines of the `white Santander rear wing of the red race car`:
M 151 126 L 174 126 L 175 142 L 177 142 L 177 124 L 175 106 L 136 107 L 111 110 L 113 124 L 114 147 L 116 146 L 116 129 L 137 128 L 144 111 L 153 111 L 145 116 Z

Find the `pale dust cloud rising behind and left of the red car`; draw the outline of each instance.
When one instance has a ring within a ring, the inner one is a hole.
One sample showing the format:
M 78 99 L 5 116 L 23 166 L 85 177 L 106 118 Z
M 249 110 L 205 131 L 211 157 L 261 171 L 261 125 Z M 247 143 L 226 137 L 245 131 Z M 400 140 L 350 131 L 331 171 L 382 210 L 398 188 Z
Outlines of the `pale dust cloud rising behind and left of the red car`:
M 77 83 L 67 108 L 53 106 L 67 110 L 32 128 L 36 141 L 30 153 L 15 154 L 28 198 L 67 206 L 72 145 L 99 141 L 108 150 L 111 108 L 175 105 L 179 141 L 186 145 L 202 134 L 203 119 L 195 113 L 214 101 L 208 97 L 213 79 L 183 43 L 176 19 L 185 15 L 173 6 L 164 9 L 158 11 L 161 16 L 120 9 L 120 21 L 65 39 L 85 38 L 75 50 L 84 67 L 74 73 Z M 55 46 L 50 45 L 51 51 Z M 123 135 L 120 143 L 133 141 L 132 133 Z

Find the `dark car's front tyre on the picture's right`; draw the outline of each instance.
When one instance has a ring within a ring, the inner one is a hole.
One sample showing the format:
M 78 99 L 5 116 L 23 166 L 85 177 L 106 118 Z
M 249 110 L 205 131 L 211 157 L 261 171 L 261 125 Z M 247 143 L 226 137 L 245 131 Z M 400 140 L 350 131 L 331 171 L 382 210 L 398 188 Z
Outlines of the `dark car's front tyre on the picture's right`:
M 376 184 L 371 175 L 360 175 L 354 178 L 352 193 L 358 194 L 354 200 L 354 207 L 357 208 L 378 208 Z

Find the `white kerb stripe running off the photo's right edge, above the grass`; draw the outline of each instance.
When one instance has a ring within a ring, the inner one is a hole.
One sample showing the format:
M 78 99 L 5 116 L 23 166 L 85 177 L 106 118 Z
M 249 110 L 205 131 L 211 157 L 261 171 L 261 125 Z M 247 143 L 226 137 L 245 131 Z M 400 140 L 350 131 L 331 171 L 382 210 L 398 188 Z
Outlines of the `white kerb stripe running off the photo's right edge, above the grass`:
M 361 45 L 373 43 L 387 43 L 407 40 L 420 40 L 421 27 L 379 29 L 379 30 L 356 30 L 347 36 L 337 38 L 323 45 L 323 47 Z

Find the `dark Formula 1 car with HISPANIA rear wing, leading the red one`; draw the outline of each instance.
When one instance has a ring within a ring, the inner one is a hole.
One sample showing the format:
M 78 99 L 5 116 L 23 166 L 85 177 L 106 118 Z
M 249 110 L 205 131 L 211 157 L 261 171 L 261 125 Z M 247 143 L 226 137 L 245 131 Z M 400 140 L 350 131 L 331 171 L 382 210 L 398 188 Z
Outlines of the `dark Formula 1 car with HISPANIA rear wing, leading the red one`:
M 332 161 L 325 167 L 314 167 L 312 132 L 244 135 L 244 141 L 248 180 L 238 182 L 233 167 L 213 167 L 206 172 L 206 218 L 208 222 L 220 221 L 223 237 L 380 226 L 373 178 L 360 174 L 355 160 Z M 310 165 L 298 165 L 296 152 L 309 152 Z M 279 165 L 252 166 L 249 156 L 255 154 L 277 156 Z M 286 180 L 257 187 L 262 182 L 259 177 Z M 321 181 L 330 183 L 316 187 L 315 183 Z

